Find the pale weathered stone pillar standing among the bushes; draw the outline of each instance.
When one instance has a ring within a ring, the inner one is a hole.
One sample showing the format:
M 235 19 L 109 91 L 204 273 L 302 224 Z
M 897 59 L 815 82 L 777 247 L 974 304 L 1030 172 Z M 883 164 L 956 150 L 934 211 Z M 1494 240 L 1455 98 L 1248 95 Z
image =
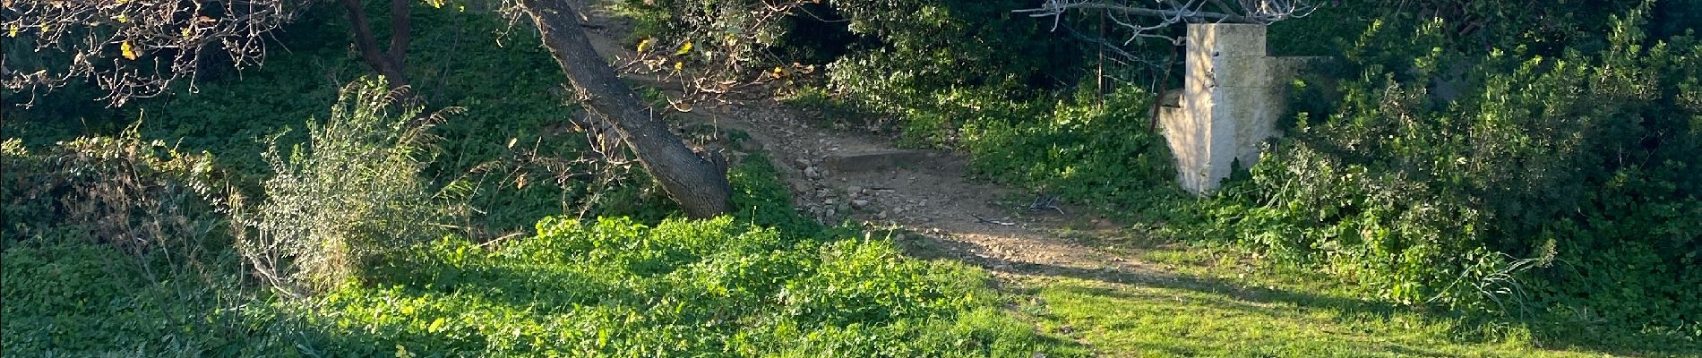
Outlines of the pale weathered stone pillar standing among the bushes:
M 1181 187 L 1208 193 L 1232 163 L 1253 166 L 1263 143 L 1280 136 L 1294 66 L 1266 56 L 1265 25 L 1254 24 L 1190 24 L 1185 66 L 1179 105 L 1161 109 L 1159 120 Z

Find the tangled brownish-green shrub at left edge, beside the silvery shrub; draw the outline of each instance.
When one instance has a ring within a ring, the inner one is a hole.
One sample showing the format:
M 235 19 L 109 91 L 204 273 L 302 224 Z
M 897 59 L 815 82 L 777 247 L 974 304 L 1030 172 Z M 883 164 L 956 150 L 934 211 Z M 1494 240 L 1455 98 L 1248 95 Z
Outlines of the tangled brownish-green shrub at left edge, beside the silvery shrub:
M 7 139 L 0 166 L 5 244 L 68 234 L 133 255 L 189 253 L 220 229 L 211 154 L 143 141 L 134 127 L 37 153 Z

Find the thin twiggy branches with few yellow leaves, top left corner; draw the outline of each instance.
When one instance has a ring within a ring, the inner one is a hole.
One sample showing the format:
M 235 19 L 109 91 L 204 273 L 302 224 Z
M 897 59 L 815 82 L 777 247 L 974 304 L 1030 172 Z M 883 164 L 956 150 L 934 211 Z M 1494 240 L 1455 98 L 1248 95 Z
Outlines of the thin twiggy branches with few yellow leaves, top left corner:
M 155 97 L 189 78 L 220 46 L 237 68 L 259 64 L 264 34 L 288 24 L 311 0 L 3 0 L 9 37 L 0 85 L 34 95 L 75 78 L 123 105 Z M 26 103 L 27 105 L 27 103 Z

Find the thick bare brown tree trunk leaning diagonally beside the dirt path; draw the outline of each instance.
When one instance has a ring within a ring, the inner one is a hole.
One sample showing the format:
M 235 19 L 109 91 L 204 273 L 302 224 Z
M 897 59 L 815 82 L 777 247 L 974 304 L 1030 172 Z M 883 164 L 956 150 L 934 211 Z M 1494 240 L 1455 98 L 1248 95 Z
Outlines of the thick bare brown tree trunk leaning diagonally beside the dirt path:
M 725 168 L 691 153 L 665 124 L 652 117 L 650 109 L 614 75 L 614 68 L 591 48 L 577 12 L 563 0 L 519 3 L 538 24 L 543 44 L 567 71 L 567 81 L 579 90 L 591 110 L 609 117 L 621 141 L 638 154 L 638 163 L 688 215 L 713 217 L 732 209 L 727 202 L 732 187 L 727 185 Z

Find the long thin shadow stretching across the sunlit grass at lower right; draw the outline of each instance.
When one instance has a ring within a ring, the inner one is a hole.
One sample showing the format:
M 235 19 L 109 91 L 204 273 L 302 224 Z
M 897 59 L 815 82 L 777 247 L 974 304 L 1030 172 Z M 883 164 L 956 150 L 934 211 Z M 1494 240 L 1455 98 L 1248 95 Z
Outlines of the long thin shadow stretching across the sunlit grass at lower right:
M 1493 333 L 1506 333 L 1508 327 L 1515 326 L 1530 329 L 1530 333 L 1537 338 L 1581 336 L 1576 333 L 1552 331 L 1556 327 L 1576 329 L 1557 322 L 1516 321 L 1503 316 L 1471 314 L 1471 312 L 1447 310 L 1438 307 L 1399 305 L 1391 302 L 1312 294 L 1304 290 L 1270 288 L 1270 287 L 1246 285 L 1241 282 L 1212 278 L 1212 277 L 1147 270 L 1139 265 L 1082 268 L 1082 266 L 1011 261 L 996 256 L 975 255 L 980 253 L 984 248 L 974 243 L 950 241 L 921 234 L 904 236 L 904 239 L 900 239 L 900 246 L 905 249 L 905 255 L 911 255 L 914 258 L 962 261 L 972 266 L 980 266 L 984 270 L 999 273 L 1076 278 L 1076 280 L 1099 282 L 1099 283 L 1208 294 L 1215 297 L 1224 297 L 1207 302 L 1212 307 L 1234 309 L 1271 317 L 1294 317 L 1292 312 L 1282 312 L 1280 305 L 1290 305 L 1299 310 L 1331 312 L 1333 319 L 1338 322 L 1348 322 L 1351 319 L 1367 319 L 1367 317 L 1379 321 L 1391 321 L 1397 314 L 1418 314 L 1425 319 L 1455 322 L 1448 327 L 1447 339 L 1465 344 L 1488 344 L 1493 341 L 1491 338 Z M 1038 288 L 1004 287 L 1004 290 L 1025 295 L 1035 295 Z M 1144 297 L 1139 292 L 1118 290 L 1110 287 L 1065 287 L 1065 290 L 1072 290 L 1074 294 L 1081 295 L 1108 297 L 1120 300 L 1154 299 L 1154 297 Z M 1605 353 L 1605 355 L 1629 355 L 1629 356 L 1702 355 L 1702 346 L 1699 346 L 1695 341 L 1666 334 L 1612 333 L 1605 336 L 1596 336 L 1593 339 L 1595 341 L 1551 339 L 1540 343 L 1539 346 L 1545 350 L 1573 350 L 1573 351 L 1588 351 L 1596 355 Z M 1356 348 L 1367 351 L 1404 355 L 1404 356 L 1452 356 L 1448 353 L 1438 353 L 1426 348 L 1387 343 L 1387 341 L 1358 343 Z M 1188 353 L 1186 348 L 1152 348 L 1152 350 L 1174 351 L 1178 355 L 1198 355 L 1198 353 Z

